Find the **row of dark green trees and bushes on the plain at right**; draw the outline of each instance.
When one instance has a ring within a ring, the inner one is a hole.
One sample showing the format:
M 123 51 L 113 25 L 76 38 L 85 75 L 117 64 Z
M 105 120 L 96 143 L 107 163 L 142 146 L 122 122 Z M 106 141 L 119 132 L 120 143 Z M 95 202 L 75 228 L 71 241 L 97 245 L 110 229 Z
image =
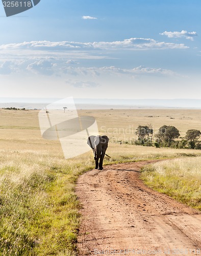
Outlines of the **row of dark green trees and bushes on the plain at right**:
M 186 132 L 184 138 L 180 137 L 179 130 L 172 125 L 163 125 L 154 135 L 153 125 L 138 125 L 135 134 L 138 139 L 134 141 L 136 145 L 173 147 L 173 148 L 191 148 L 201 150 L 201 141 L 199 130 L 190 129 Z M 153 136 L 155 141 L 153 141 Z M 181 138 L 181 140 L 175 140 Z

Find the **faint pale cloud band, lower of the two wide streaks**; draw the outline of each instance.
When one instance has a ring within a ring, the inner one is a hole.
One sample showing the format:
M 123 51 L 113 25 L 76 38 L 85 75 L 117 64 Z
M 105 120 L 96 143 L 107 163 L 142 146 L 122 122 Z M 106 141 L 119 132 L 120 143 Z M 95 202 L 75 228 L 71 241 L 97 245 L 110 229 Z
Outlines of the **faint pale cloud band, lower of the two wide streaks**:
M 161 68 L 147 68 L 139 66 L 133 69 L 123 69 L 114 66 L 105 67 L 78 67 L 77 65 L 71 65 L 74 62 L 57 59 L 43 59 L 33 60 L 27 59 L 26 61 L 5 61 L 0 63 L 0 74 L 7 75 L 11 73 L 28 73 L 32 72 L 37 75 L 45 76 L 62 76 L 62 77 L 82 77 L 99 79 L 100 76 L 135 76 L 135 75 L 177 75 L 171 70 L 164 70 Z M 69 65 L 70 64 L 70 65 Z M 87 82 L 86 82 L 87 84 Z M 86 86 L 85 87 L 89 87 Z M 81 86 L 80 86 L 81 87 Z M 82 85 L 83 87 L 83 85 Z

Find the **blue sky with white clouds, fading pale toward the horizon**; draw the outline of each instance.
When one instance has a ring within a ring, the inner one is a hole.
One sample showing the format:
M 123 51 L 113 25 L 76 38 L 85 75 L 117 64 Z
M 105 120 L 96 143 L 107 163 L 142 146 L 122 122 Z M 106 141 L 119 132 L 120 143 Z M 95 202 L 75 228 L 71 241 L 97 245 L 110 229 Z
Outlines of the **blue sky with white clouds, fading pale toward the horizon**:
M 200 0 L 0 5 L 1 97 L 201 98 Z

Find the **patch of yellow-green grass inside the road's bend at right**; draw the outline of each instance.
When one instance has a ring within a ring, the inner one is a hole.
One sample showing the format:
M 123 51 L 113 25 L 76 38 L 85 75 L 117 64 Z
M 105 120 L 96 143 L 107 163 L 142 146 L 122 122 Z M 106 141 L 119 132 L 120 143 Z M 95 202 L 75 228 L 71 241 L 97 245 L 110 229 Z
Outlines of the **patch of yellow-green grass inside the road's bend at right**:
M 166 160 L 143 167 L 149 187 L 201 210 L 201 157 Z

